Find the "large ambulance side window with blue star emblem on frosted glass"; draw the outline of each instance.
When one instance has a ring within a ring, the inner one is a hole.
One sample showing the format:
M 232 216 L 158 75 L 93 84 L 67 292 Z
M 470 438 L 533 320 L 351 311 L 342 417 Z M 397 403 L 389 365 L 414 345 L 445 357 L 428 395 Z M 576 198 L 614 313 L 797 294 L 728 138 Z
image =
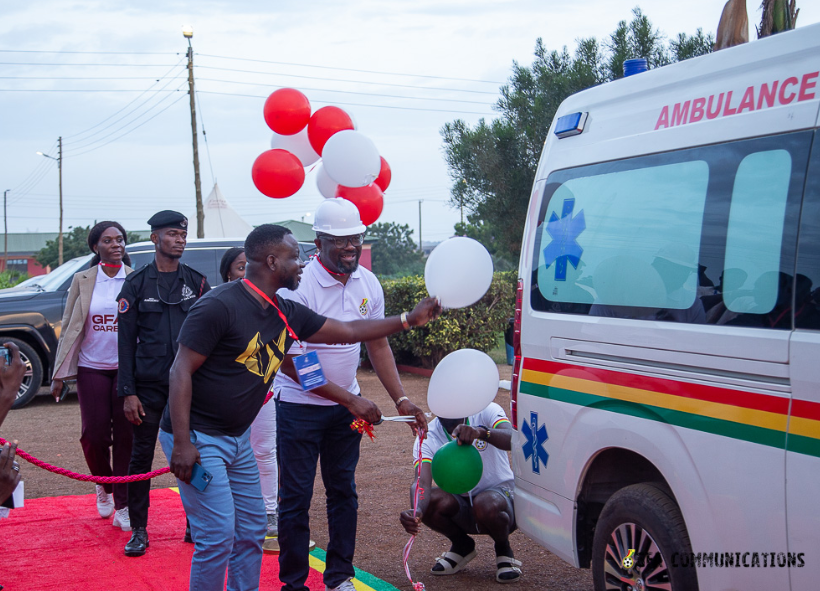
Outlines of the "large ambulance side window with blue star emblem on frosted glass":
M 552 173 L 533 309 L 791 328 L 810 143 L 799 132 Z

